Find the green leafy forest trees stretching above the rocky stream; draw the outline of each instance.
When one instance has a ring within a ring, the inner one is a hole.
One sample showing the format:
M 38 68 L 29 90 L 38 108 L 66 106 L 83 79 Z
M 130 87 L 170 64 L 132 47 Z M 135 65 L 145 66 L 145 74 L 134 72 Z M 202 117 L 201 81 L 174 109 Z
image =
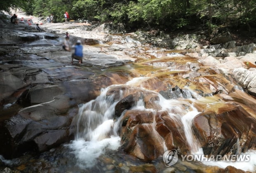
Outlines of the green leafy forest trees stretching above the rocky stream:
M 255 0 L 8 0 L 0 9 L 20 7 L 26 13 L 45 17 L 54 14 L 63 22 L 70 19 L 125 23 L 130 28 L 175 30 L 200 23 L 216 26 L 256 25 Z

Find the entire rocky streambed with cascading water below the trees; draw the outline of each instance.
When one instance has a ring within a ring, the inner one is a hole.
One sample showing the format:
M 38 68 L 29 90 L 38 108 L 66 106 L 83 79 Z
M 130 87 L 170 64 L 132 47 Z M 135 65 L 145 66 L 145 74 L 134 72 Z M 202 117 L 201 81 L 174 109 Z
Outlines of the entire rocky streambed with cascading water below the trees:
M 111 34 L 75 21 L 39 33 L 39 19 L 18 17 L 0 15 L 0 171 L 256 172 L 255 43 L 222 35 L 205 46 L 203 33 Z M 82 64 L 62 49 L 66 32 L 83 42 Z M 178 162 L 166 166 L 174 149 Z

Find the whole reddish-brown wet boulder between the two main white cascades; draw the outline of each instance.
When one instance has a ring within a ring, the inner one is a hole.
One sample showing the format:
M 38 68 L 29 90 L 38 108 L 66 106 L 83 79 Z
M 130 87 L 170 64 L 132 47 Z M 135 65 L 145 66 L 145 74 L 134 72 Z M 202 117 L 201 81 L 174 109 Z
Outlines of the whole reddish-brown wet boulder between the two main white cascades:
M 166 149 L 190 150 L 183 124 L 167 111 L 127 110 L 120 135 L 124 151 L 143 161 L 157 159 Z

